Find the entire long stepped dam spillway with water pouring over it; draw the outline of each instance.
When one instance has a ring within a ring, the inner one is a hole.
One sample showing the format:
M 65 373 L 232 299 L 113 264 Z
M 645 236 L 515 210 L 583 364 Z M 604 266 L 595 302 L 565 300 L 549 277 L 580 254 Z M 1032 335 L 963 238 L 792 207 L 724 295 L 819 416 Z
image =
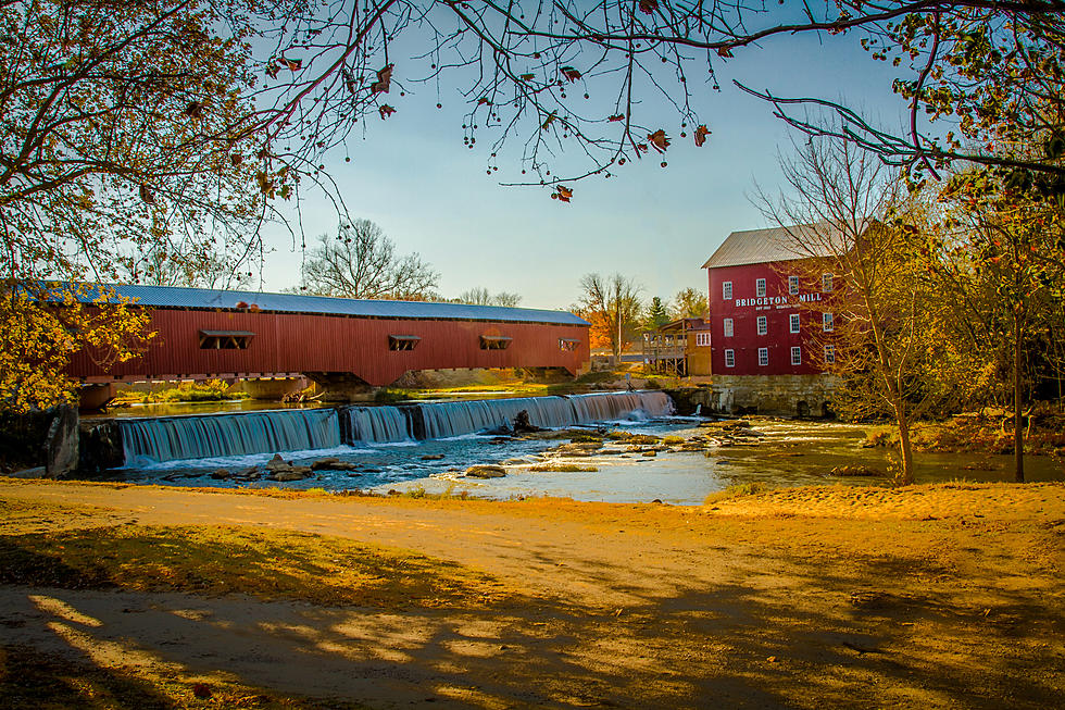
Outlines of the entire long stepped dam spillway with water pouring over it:
M 661 391 L 594 393 L 336 409 L 118 420 L 126 465 L 184 459 L 440 439 L 509 426 L 518 412 L 542 428 L 673 413 Z

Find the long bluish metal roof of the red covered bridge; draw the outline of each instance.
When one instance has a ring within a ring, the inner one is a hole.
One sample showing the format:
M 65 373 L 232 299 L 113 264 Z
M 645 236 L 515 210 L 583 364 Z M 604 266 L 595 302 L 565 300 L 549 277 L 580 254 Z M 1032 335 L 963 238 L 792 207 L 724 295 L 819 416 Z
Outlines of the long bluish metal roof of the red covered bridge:
M 121 297 L 136 299 L 138 306 L 152 308 L 211 310 L 243 310 L 254 308 L 259 311 L 272 313 L 589 325 L 584 319 L 566 311 L 548 311 L 531 308 L 502 308 L 499 306 L 469 306 L 467 303 L 426 301 L 372 301 L 354 298 L 333 298 L 329 296 L 303 296 L 301 294 L 227 291 L 213 288 L 142 286 L 136 284 L 103 284 L 101 288 L 113 289 Z M 85 303 L 97 300 L 99 296 L 100 290 L 97 287 L 83 289 L 78 294 L 79 300 Z

